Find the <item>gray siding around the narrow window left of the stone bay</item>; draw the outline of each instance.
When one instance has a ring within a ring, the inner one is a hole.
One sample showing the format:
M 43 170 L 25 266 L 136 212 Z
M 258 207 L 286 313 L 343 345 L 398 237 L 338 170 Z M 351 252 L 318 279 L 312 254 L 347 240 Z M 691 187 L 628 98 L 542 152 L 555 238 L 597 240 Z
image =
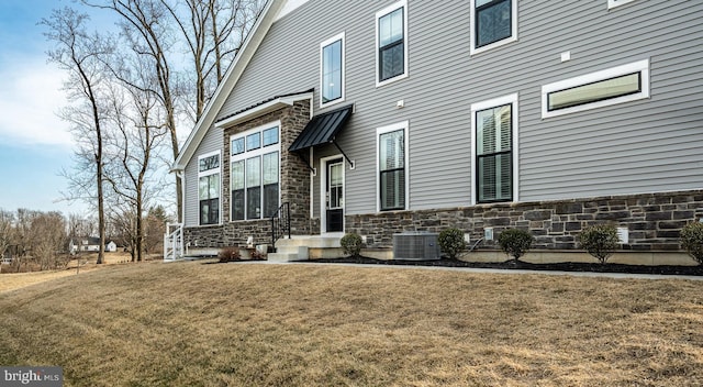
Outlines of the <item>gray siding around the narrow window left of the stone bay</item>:
M 223 132 L 221 129 L 211 128 L 203 137 L 198 152 L 190 159 L 190 163 L 186 166 L 185 172 L 185 190 L 186 190 L 186 217 L 183 223 L 187 226 L 200 225 L 200 204 L 198 199 L 198 157 L 211 152 L 221 151 L 220 153 L 220 170 L 222 170 L 223 155 Z M 222 174 L 220 175 L 220 181 L 222 183 Z M 222 184 L 221 184 L 222 186 Z M 222 194 L 227 195 L 226 187 L 222 187 Z M 220 222 L 222 222 L 222 196 L 220 197 Z

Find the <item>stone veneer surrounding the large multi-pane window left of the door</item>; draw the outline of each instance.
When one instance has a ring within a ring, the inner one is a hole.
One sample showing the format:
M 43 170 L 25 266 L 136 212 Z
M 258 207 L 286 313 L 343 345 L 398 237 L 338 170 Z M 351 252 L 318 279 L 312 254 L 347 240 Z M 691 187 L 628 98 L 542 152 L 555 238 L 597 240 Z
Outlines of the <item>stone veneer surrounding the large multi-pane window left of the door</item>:
M 197 226 L 185 230 L 183 239 L 191 246 L 225 247 L 246 244 L 254 236 L 256 244 L 270 244 L 271 222 L 269 219 L 230 221 L 230 136 L 236 133 L 280 121 L 280 196 L 281 202 L 290 203 L 291 233 L 308 235 L 319 233 L 319 222 L 310 217 L 310 168 L 300 156 L 288 152 L 290 145 L 310 121 L 310 101 L 302 100 L 292 107 L 257 117 L 224 131 L 222 168 L 222 225 Z

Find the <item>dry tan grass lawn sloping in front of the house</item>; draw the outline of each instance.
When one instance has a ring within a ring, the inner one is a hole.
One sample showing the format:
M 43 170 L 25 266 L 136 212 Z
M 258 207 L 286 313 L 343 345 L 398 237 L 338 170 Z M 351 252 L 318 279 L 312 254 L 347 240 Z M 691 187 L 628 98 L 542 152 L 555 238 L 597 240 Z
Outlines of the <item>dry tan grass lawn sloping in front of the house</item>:
M 112 265 L 0 295 L 67 386 L 701 386 L 703 281 Z

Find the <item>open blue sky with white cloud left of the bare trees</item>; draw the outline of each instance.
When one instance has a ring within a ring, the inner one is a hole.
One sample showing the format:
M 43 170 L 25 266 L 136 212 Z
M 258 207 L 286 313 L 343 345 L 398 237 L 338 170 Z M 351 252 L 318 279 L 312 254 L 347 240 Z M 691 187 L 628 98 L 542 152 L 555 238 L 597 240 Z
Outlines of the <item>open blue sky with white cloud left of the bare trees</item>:
M 47 63 L 53 44 L 44 36 L 46 26 L 38 25 L 53 9 L 64 7 L 79 4 L 0 0 L 0 209 L 7 211 L 26 208 L 68 215 L 88 209 L 60 200 L 68 185 L 60 173 L 74 165 L 69 126 L 57 115 L 67 104 L 62 91 L 66 73 Z M 93 16 L 97 22 L 104 20 Z

